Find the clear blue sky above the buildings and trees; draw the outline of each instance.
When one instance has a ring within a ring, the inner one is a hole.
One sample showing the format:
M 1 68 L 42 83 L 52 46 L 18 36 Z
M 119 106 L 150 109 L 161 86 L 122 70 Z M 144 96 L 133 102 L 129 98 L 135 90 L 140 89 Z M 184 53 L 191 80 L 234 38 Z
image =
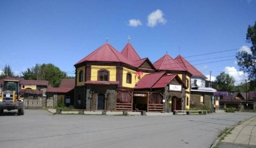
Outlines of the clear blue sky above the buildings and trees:
M 255 0 L 1 0 L 0 69 L 7 64 L 22 75 L 36 63 L 52 63 L 74 76 L 73 65 L 106 37 L 121 51 L 129 35 L 152 63 L 167 51 L 172 58 L 181 54 L 204 75 L 212 71 L 212 80 L 225 71 L 238 84 L 245 74 L 235 54 L 251 46 L 246 32 L 255 8 Z

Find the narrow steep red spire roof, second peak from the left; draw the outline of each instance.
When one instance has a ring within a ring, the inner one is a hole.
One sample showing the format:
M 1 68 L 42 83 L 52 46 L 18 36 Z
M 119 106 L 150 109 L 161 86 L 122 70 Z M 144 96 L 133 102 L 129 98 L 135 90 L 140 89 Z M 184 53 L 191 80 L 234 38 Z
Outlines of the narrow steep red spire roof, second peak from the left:
M 139 57 L 138 53 L 132 47 L 130 42 L 128 42 L 125 45 L 124 49 L 121 51 L 121 54 L 123 54 L 123 56 L 126 57 L 131 62 L 140 60 L 140 57 Z

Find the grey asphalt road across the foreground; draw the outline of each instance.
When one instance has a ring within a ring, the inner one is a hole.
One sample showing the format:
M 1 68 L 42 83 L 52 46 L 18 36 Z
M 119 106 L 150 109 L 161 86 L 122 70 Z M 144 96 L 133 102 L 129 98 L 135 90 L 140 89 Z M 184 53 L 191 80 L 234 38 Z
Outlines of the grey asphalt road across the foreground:
M 177 116 L 0 116 L 0 148 L 209 148 L 225 127 L 255 113 Z

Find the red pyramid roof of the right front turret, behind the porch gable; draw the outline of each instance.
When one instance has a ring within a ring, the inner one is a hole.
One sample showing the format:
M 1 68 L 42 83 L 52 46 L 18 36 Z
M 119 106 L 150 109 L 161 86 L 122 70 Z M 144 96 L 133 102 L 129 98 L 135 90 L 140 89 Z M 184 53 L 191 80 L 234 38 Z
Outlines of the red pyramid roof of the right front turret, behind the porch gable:
M 176 60 L 172 59 L 168 54 L 165 54 L 162 58 L 156 61 L 154 64 L 157 70 L 166 71 L 187 71 L 185 67 L 180 65 Z

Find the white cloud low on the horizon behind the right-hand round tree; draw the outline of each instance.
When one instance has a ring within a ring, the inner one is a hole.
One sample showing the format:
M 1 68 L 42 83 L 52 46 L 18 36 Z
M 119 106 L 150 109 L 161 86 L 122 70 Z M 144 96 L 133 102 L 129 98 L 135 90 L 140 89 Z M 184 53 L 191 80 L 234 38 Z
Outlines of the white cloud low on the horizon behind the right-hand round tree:
M 240 85 L 241 82 L 245 82 L 246 74 L 243 71 L 237 71 L 235 67 L 225 67 L 223 71 L 235 79 L 236 86 Z

